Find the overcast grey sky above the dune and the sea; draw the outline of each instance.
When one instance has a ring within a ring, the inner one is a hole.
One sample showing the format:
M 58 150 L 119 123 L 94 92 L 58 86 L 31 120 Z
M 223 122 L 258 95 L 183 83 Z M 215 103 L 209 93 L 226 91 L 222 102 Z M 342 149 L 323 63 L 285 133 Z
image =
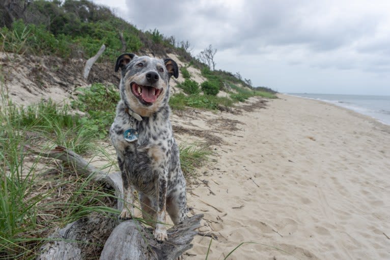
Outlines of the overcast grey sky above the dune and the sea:
M 281 93 L 390 96 L 389 0 L 93 0 Z

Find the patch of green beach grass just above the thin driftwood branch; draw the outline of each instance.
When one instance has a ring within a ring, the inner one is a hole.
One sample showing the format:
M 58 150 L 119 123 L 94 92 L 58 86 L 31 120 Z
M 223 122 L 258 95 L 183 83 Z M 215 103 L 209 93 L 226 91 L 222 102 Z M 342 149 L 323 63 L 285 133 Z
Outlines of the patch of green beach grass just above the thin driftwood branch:
M 17 129 L 26 143 L 52 143 L 72 149 L 79 154 L 87 153 L 96 134 L 78 115 L 71 114 L 67 105 L 59 106 L 51 100 L 27 107 L 17 107 L 11 102 L 3 106 L 2 120 L 12 130 Z M 8 138 L 12 132 L 7 132 Z M 11 136 L 10 136 L 11 135 Z

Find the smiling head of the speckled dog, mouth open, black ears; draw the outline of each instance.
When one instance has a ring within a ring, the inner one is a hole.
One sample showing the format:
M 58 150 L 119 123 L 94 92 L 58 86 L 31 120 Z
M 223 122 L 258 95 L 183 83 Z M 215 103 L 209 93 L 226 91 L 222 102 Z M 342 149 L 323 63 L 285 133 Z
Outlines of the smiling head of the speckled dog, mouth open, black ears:
M 168 103 L 169 80 L 177 78 L 179 69 L 172 59 L 156 59 L 149 56 L 138 57 L 124 53 L 117 59 L 115 71 L 122 70 L 119 91 L 125 105 L 143 117 Z

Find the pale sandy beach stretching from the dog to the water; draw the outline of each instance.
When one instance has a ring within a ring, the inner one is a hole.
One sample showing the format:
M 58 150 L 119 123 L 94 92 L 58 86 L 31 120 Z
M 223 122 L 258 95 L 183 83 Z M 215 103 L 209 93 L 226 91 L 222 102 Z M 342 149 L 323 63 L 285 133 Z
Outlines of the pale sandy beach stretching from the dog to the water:
M 208 259 L 242 242 L 254 244 L 227 259 L 390 259 L 390 126 L 315 100 L 266 104 L 172 116 L 221 141 L 187 195 L 217 236 Z M 210 239 L 196 236 L 185 259 L 205 259 Z

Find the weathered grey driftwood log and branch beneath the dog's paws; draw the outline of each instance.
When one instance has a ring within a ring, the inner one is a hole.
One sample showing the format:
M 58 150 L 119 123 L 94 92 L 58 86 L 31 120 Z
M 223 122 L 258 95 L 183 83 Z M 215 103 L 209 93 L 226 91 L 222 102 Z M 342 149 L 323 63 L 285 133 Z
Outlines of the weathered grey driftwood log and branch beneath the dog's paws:
M 107 174 L 97 170 L 81 156 L 64 147 L 56 147 L 48 152 L 39 152 L 29 146 L 27 150 L 40 156 L 62 160 L 77 170 L 78 174 L 91 177 L 115 189 L 116 196 L 123 198 L 120 172 Z M 118 199 L 117 207 L 123 208 L 123 199 Z M 146 228 L 136 220 L 128 220 L 118 225 L 117 217 L 90 216 L 79 219 L 51 234 L 36 259 L 85 259 L 96 255 L 104 244 L 100 259 L 175 259 L 192 247 L 191 241 L 198 232 L 203 215 L 192 216 L 183 223 L 168 229 L 168 241 L 158 243 L 151 228 Z M 108 239 L 107 239 L 108 238 Z

